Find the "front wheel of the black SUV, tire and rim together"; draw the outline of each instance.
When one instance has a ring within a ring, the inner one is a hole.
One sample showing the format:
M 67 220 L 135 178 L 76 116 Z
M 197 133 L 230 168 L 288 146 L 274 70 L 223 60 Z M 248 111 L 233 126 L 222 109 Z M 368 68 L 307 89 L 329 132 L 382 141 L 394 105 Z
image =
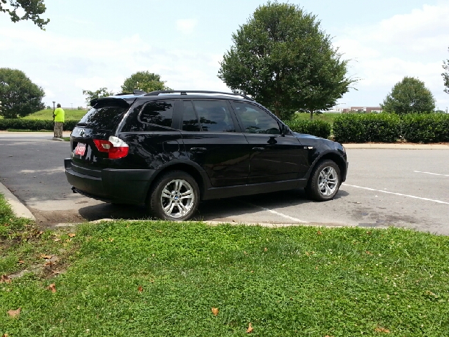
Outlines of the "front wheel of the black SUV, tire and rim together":
M 311 199 L 326 201 L 335 197 L 341 184 L 340 168 L 335 161 L 326 159 L 320 161 L 312 171 L 306 192 Z

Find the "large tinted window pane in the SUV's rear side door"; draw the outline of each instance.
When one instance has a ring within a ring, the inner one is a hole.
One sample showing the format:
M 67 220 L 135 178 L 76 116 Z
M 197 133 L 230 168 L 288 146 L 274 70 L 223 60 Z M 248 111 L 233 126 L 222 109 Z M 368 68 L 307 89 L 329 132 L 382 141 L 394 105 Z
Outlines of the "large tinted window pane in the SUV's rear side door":
M 236 131 L 225 100 L 194 100 L 193 103 L 203 131 Z

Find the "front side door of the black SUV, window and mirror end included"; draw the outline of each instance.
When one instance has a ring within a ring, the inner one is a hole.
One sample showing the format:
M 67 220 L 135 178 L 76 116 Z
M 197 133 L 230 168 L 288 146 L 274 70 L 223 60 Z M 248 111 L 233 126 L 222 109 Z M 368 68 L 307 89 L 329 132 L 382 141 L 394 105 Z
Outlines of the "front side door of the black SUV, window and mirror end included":
M 233 101 L 232 106 L 250 145 L 248 183 L 297 179 L 304 165 L 300 141 L 282 136 L 279 121 L 257 105 Z

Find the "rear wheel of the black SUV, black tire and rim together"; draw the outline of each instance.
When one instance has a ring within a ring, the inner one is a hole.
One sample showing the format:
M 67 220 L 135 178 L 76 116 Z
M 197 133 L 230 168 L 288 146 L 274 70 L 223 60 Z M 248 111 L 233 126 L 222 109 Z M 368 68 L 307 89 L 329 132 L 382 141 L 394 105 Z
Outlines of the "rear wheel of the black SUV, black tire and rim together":
M 189 220 L 198 204 L 198 184 L 184 171 L 169 171 L 159 177 L 154 182 L 147 202 L 149 211 L 156 218 L 170 221 Z

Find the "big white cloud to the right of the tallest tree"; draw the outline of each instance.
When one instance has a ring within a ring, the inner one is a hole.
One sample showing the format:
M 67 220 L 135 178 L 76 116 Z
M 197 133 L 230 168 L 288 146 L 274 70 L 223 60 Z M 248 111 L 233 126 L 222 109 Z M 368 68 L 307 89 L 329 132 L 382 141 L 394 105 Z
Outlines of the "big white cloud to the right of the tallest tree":
M 351 59 L 351 74 L 361 79 L 358 91 L 345 94 L 342 101 L 377 105 L 394 84 L 409 76 L 424 81 L 437 106 L 449 105 L 441 77 L 443 60 L 449 57 L 448 17 L 449 4 L 424 5 L 375 24 L 351 27 L 335 39 L 344 58 Z

